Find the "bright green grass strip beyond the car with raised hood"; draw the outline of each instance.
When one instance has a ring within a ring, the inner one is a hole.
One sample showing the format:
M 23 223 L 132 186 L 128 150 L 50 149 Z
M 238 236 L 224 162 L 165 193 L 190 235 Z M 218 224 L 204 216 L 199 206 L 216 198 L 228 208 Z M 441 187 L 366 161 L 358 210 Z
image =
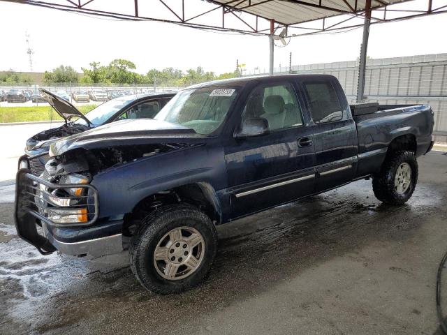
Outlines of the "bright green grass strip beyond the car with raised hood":
M 82 114 L 86 114 L 94 107 L 96 105 L 82 105 L 77 108 Z M 50 121 L 51 119 L 63 120 L 50 106 L 0 107 L 0 123 Z

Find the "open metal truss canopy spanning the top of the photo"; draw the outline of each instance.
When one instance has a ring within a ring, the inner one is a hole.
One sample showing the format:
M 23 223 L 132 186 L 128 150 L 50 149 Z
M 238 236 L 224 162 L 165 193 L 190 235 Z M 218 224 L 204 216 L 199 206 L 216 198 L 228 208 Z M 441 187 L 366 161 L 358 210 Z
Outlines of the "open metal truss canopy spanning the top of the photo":
M 362 27 L 366 0 L 0 0 L 121 20 L 170 22 L 198 29 L 288 36 Z M 413 3 L 423 3 L 415 7 Z M 372 0 L 371 24 L 447 13 L 447 0 Z M 359 20 L 360 19 L 360 20 Z M 309 27 L 310 23 L 314 24 Z

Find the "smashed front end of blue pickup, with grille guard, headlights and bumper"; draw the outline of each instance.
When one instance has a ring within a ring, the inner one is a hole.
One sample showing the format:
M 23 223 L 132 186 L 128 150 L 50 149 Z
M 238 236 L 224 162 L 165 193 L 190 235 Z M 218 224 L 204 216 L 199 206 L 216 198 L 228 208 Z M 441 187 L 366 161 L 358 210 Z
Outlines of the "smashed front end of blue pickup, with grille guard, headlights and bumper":
M 54 156 L 36 176 L 23 156 L 16 180 L 17 234 L 43 254 L 99 256 L 122 250 L 123 221 L 99 218 L 96 174 L 192 144 L 140 144 L 77 148 Z

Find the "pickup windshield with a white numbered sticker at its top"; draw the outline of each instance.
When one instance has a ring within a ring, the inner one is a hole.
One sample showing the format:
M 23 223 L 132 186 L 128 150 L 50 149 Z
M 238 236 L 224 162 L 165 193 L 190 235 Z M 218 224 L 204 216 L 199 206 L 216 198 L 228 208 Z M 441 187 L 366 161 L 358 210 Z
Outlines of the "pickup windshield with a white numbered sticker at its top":
M 222 124 L 236 96 L 236 89 L 231 88 L 185 89 L 174 96 L 154 119 L 210 135 Z

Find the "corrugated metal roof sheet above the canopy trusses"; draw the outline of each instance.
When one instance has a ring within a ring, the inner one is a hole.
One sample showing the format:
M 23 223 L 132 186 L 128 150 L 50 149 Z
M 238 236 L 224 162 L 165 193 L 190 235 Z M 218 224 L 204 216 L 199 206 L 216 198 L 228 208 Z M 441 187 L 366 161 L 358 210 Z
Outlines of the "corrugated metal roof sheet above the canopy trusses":
M 374 10 L 406 1 L 411 0 L 372 0 L 371 8 Z M 366 6 L 365 0 L 216 0 L 213 2 L 284 25 L 320 20 L 341 14 L 362 14 Z

